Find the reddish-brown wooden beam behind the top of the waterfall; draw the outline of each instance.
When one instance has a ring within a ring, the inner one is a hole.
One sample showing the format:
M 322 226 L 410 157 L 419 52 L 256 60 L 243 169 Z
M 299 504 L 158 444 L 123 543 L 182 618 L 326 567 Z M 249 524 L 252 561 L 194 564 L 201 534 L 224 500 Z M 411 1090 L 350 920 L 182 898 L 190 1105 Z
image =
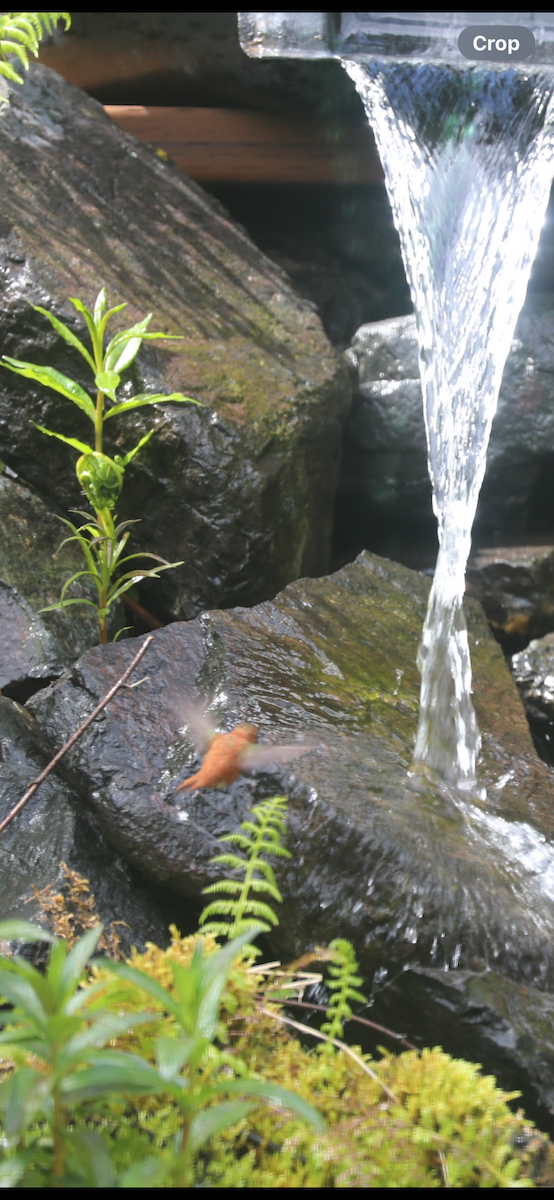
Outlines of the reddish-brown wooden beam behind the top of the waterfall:
M 106 104 L 104 112 L 198 182 L 381 184 L 384 179 L 369 126 L 291 121 L 240 108 Z

